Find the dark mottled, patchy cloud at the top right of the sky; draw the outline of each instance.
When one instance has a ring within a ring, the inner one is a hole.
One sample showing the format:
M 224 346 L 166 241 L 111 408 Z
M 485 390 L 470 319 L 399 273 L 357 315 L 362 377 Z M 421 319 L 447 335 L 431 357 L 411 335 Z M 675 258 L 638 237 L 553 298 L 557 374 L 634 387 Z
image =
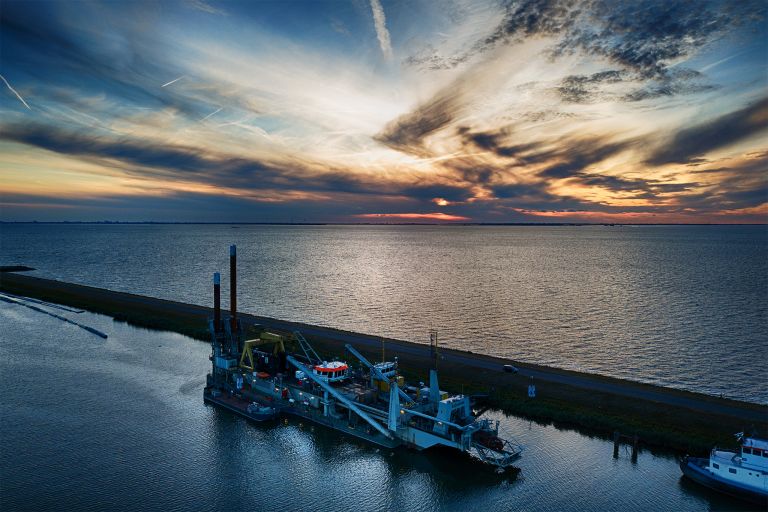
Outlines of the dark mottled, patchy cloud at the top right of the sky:
M 765 15 L 759 0 L 702 1 L 695 9 L 686 0 L 506 0 L 501 21 L 470 49 L 440 59 L 429 47 L 406 63 L 451 68 L 499 45 L 546 36 L 557 41 L 553 57 L 583 52 L 646 77 L 663 77 L 674 60 Z

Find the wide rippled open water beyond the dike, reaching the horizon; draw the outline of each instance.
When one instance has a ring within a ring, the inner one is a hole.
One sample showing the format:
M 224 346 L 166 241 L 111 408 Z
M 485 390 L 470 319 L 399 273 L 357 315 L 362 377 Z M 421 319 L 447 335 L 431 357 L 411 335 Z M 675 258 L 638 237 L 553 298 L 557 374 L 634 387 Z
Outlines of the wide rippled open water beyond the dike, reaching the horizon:
M 2 225 L 32 275 L 768 403 L 765 226 Z M 226 305 L 226 300 L 225 300 Z

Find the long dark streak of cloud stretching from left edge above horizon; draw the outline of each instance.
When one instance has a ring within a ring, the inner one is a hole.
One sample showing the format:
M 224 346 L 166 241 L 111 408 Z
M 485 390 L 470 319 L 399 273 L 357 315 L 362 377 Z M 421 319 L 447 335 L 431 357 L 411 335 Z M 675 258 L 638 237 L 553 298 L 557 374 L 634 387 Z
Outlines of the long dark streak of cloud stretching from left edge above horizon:
M 311 163 L 295 157 L 242 157 L 210 149 L 153 144 L 141 139 L 76 134 L 41 125 L 5 125 L 0 130 L 2 140 L 74 155 L 119 169 L 126 175 L 162 180 L 170 183 L 171 190 L 189 189 L 173 183 L 196 183 L 197 189 L 209 193 L 219 190 L 243 196 L 251 191 L 270 190 L 280 191 L 289 198 L 292 190 L 298 190 L 301 193 L 295 197 L 301 199 L 328 197 L 312 196 L 317 192 L 408 197 L 425 202 L 438 195 L 457 201 L 468 197 L 465 188 L 450 183 L 381 181 L 376 176 L 356 175 L 344 169 L 325 168 L 318 172 Z

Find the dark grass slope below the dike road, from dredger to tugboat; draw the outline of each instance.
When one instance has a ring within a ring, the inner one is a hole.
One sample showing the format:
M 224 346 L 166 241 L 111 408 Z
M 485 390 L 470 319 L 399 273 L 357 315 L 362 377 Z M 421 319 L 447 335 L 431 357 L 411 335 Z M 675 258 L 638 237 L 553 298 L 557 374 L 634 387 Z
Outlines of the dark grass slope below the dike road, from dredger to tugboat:
M 333 343 L 316 338 L 311 341 L 319 350 L 342 355 Z M 381 358 L 380 351 L 363 349 L 360 352 L 376 360 Z M 521 363 L 516 364 L 521 369 L 524 367 Z M 429 359 L 426 357 L 401 357 L 399 367 L 409 382 L 428 381 Z M 490 370 L 469 373 L 466 367 L 443 360 L 438 363 L 438 370 L 442 389 L 470 395 L 489 393 L 489 405 L 508 414 L 605 439 L 612 438 L 615 431 L 637 435 L 641 445 L 680 454 L 706 454 L 716 445 L 735 446 L 733 434 L 745 429 L 754 428 L 762 434 L 768 432 L 768 421 L 745 421 L 719 414 L 702 416 L 690 409 L 646 400 L 630 400 L 620 395 L 542 379 L 535 381 L 536 398 L 532 399 L 527 395 L 530 380 L 521 375 Z M 761 406 L 755 407 L 759 409 Z

